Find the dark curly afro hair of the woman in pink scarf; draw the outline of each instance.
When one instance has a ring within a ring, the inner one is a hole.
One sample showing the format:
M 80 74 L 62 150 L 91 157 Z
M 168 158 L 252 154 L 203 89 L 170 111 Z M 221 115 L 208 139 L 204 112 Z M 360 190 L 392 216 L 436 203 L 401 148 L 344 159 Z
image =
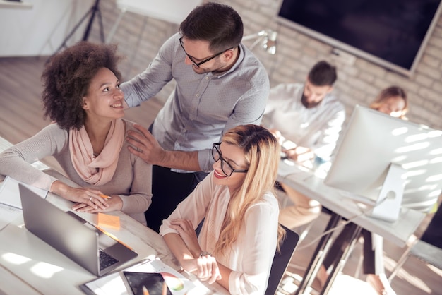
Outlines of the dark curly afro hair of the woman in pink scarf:
M 88 94 L 90 81 L 100 68 L 109 68 L 119 80 L 117 45 L 81 41 L 52 56 L 44 68 L 44 118 L 55 121 L 61 128 L 80 129 L 85 122 L 83 97 Z

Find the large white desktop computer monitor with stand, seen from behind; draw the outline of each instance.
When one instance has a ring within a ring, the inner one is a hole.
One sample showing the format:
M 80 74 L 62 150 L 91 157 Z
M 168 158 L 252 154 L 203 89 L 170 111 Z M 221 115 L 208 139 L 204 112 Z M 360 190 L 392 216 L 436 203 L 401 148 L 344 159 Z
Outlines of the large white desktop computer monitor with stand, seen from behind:
M 442 188 L 442 131 L 357 105 L 324 183 L 374 202 L 395 221 L 400 207 L 428 212 Z

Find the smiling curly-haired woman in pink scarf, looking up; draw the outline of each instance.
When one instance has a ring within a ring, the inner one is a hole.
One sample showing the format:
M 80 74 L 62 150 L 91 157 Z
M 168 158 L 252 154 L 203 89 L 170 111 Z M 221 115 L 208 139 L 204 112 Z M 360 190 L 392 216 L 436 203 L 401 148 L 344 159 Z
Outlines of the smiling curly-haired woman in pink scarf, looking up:
M 55 54 L 42 74 L 44 116 L 39 133 L 0 154 L 0 174 L 43 188 L 81 212 L 121 210 L 143 224 L 151 203 L 152 166 L 129 152 L 133 123 L 124 116 L 117 46 L 78 42 Z M 32 167 L 54 156 L 68 184 Z

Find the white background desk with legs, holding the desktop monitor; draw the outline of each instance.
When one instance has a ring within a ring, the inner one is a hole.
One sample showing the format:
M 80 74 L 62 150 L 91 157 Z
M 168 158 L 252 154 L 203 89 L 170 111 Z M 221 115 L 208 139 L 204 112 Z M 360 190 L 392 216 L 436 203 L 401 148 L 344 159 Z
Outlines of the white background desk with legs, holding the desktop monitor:
M 293 173 L 290 173 L 291 170 Z M 342 196 L 337 189 L 325 186 L 323 179 L 315 176 L 313 173 L 299 171 L 297 167 L 293 166 L 293 162 L 287 160 L 280 162 L 277 180 L 287 184 L 309 198 L 318 200 L 324 207 L 327 207 L 333 212 L 325 231 L 337 227 L 338 222 L 340 222 L 342 218 L 352 219 L 352 222 L 357 224 L 357 227 L 354 227 L 351 233 L 353 236 L 352 241 L 359 236 L 359 232 L 364 228 L 383 236 L 383 238 L 396 243 L 398 246 L 405 246 L 407 239 L 414 233 L 425 216 L 422 212 L 402 208 L 396 222 L 384 222 L 380 219 L 374 219 L 365 215 L 357 217 L 363 212 L 357 203 Z M 353 219 L 354 217 L 356 218 Z M 330 244 L 333 242 L 330 239 L 331 235 L 331 233 L 325 234 L 325 236 L 321 238 L 321 241 L 319 241 L 296 294 L 303 294 L 303 292 L 311 286 L 323 262 L 326 251 L 328 251 Z M 349 247 L 345 249 L 342 257 L 337 258 L 336 265 L 333 267 L 333 271 L 330 273 L 328 281 L 325 283 L 320 294 L 328 293 L 335 276 L 338 275 L 338 272 L 344 266 L 342 261 L 345 262 L 346 257 L 350 254 L 351 248 L 352 243 L 349 243 Z

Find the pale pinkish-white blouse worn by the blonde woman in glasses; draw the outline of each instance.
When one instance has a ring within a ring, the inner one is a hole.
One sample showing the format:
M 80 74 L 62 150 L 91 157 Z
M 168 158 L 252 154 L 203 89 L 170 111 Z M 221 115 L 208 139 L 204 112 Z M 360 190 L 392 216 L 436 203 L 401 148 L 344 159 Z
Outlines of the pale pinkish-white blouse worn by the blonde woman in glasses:
M 213 172 L 163 221 L 160 234 L 177 233 L 169 227 L 173 219 L 189 219 L 196 229 L 204 223 L 198 241 L 204 251 L 213 253 L 220 236 L 230 193 L 227 186 L 213 183 Z M 237 241 L 227 256 L 215 256 L 229 267 L 231 294 L 264 294 L 277 245 L 279 207 L 273 193 L 265 193 L 259 203 L 247 211 Z

